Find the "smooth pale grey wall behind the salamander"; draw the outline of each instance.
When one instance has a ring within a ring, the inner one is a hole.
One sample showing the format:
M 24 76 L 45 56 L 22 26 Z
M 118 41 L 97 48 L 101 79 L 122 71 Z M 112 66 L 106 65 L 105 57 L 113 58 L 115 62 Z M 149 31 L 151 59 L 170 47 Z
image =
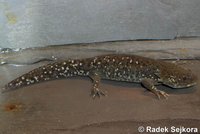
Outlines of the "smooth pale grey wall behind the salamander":
M 200 0 L 0 0 L 0 47 L 200 36 Z

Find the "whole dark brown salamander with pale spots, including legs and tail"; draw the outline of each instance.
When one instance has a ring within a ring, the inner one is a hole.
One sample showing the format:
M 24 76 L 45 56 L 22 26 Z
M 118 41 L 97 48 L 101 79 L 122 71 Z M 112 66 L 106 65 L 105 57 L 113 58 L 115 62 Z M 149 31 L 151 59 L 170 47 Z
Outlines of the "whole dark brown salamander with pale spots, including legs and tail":
M 4 91 L 72 76 L 88 76 L 93 80 L 93 98 L 105 95 L 99 89 L 101 79 L 141 83 L 158 98 L 168 97 L 167 93 L 156 88 L 158 84 L 186 88 L 197 82 L 197 77 L 189 69 L 172 63 L 136 55 L 111 54 L 44 65 L 9 82 Z

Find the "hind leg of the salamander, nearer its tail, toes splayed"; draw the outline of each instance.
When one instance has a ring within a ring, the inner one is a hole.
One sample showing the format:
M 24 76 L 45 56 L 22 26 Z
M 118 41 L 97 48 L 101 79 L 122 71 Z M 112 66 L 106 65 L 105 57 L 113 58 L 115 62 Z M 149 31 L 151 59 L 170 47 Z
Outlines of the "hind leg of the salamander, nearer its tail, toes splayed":
M 92 96 L 92 98 L 95 98 L 96 96 L 98 96 L 98 97 L 105 96 L 105 93 L 102 92 L 99 89 L 99 83 L 101 81 L 101 77 L 99 76 L 99 74 L 98 73 L 91 73 L 89 75 L 89 77 L 93 81 L 93 87 L 92 87 L 92 90 L 91 90 L 91 96 Z

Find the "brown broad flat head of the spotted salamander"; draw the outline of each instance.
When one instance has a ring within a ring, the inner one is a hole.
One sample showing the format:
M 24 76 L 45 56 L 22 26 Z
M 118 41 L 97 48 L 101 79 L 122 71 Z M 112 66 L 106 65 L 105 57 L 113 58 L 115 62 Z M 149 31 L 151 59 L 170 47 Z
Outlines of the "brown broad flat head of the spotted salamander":
M 164 85 L 172 88 L 186 88 L 197 84 L 197 76 L 191 70 L 182 67 L 170 67 L 161 73 Z

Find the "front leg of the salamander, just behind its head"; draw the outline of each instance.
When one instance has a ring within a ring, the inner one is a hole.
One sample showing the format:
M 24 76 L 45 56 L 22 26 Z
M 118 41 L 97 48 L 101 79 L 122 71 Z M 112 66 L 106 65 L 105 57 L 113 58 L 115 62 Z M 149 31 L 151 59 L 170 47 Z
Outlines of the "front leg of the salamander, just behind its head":
M 149 91 L 151 91 L 152 93 L 154 93 L 158 99 L 160 99 L 160 96 L 163 96 L 164 98 L 167 99 L 167 97 L 169 96 L 167 93 L 165 93 L 164 91 L 160 91 L 155 87 L 155 82 L 152 79 L 143 79 L 142 80 L 142 85 L 147 88 Z

